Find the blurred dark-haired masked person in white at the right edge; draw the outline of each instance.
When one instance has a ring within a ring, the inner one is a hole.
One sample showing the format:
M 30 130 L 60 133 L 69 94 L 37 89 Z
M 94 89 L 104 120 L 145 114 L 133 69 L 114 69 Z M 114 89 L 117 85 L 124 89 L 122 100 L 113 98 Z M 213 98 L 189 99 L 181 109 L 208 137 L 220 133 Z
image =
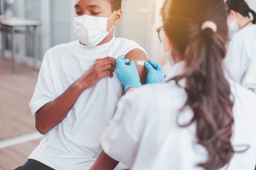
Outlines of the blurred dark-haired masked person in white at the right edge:
M 227 0 L 229 43 L 225 64 L 232 79 L 256 89 L 256 13 L 244 0 Z

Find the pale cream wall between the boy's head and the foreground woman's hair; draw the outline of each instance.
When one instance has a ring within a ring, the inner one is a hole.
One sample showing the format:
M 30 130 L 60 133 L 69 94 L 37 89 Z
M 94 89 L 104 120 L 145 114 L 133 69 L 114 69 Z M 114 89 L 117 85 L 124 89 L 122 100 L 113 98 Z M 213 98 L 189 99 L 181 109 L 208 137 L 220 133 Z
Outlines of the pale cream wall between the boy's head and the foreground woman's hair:
M 115 28 L 116 37 L 136 41 L 148 57 L 160 61 L 160 46 L 156 29 L 162 26 L 160 9 L 164 0 L 123 0 L 123 18 Z

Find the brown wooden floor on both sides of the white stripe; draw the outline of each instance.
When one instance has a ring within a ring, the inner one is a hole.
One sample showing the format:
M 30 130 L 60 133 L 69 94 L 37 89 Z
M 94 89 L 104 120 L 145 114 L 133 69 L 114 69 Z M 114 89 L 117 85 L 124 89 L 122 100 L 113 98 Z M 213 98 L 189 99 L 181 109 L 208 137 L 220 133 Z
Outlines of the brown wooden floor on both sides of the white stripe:
M 0 141 L 36 131 L 29 102 L 37 74 L 24 64 L 16 64 L 16 76 L 12 76 L 11 62 L 0 59 Z M 39 142 L 40 139 L 0 149 L 0 170 L 13 170 L 25 163 Z

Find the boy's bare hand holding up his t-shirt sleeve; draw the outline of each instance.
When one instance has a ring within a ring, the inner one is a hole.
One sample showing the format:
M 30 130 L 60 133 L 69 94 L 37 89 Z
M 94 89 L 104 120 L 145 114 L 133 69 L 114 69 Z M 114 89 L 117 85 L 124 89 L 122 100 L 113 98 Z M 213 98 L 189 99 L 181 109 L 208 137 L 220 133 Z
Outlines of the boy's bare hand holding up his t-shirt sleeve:
M 112 57 L 105 57 L 97 59 L 92 66 L 83 74 L 78 82 L 81 88 L 87 89 L 98 83 L 103 77 L 113 77 L 113 72 L 116 67 L 116 59 Z

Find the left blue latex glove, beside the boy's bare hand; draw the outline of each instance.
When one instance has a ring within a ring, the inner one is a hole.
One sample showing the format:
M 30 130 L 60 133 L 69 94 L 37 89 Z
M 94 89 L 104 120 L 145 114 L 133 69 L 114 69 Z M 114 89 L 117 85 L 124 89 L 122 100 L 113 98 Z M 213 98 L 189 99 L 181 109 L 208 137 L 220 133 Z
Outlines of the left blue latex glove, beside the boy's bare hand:
M 139 74 L 136 68 L 136 65 L 134 61 L 131 61 L 129 59 L 124 59 L 124 55 L 121 55 L 116 60 L 116 72 L 117 72 L 117 78 L 119 81 L 124 85 L 124 92 L 130 88 L 130 87 L 141 87 Z M 130 62 L 130 65 L 126 65 Z

